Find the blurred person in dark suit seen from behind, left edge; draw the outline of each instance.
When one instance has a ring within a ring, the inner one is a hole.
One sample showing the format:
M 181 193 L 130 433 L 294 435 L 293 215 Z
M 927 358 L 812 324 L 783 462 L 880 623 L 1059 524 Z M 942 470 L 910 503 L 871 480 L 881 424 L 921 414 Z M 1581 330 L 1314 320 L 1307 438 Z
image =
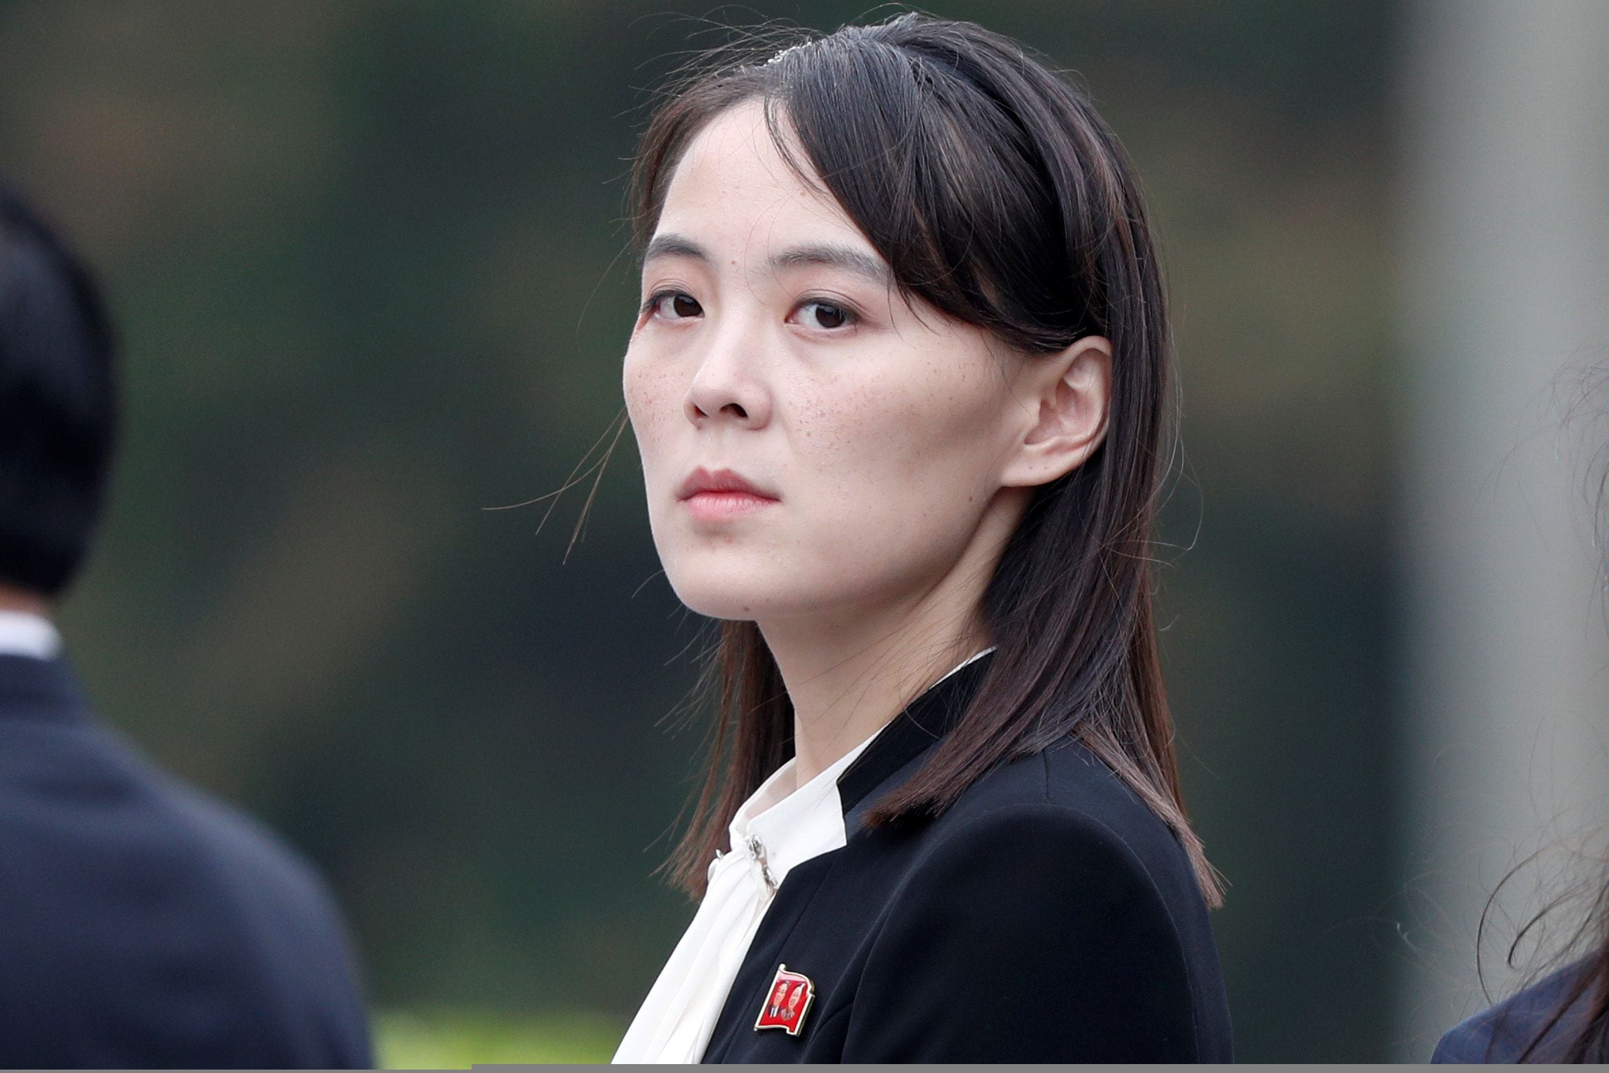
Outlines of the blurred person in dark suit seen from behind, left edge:
M 368 1068 L 322 878 L 101 726 L 61 655 L 114 425 L 88 273 L 0 193 L 0 1068 Z

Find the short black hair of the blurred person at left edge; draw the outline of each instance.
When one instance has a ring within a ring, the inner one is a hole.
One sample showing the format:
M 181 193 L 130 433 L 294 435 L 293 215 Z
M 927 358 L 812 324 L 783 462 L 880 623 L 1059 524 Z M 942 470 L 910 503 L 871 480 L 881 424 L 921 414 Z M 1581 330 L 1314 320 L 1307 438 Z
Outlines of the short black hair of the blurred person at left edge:
M 100 518 L 114 344 L 88 270 L 0 185 L 0 584 L 53 597 Z

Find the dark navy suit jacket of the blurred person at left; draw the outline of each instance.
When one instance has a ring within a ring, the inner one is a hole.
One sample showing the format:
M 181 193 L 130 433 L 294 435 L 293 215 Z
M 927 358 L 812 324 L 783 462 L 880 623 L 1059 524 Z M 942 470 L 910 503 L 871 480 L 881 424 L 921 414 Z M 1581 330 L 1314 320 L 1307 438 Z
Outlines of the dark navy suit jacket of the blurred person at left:
M 0 1067 L 370 1065 L 319 877 L 0 656 Z

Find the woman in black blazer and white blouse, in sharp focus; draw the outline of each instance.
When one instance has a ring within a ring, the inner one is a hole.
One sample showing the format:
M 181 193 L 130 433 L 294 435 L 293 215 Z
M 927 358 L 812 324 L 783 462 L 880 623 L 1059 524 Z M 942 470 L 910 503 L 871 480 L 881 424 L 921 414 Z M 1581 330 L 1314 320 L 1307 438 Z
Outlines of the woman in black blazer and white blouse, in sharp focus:
M 702 904 L 616 1062 L 1228 1060 L 1150 611 L 1163 290 L 1105 124 L 904 14 L 690 77 L 636 195 L 628 413 L 721 700 Z

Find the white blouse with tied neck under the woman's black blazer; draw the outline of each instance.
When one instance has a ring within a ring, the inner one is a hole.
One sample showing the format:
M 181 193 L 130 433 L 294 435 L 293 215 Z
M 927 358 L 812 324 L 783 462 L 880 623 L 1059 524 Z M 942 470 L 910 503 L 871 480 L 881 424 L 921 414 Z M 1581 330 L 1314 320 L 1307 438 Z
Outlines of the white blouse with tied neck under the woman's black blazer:
M 988 652 L 993 648 L 972 660 Z M 798 788 L 790 759 L 737 809 L 729 828 L 732 851 L 710 862 L 710 886 L 698 912 L 626 1030 L 616 1063 L 703 1059 L 732 980 L 788 870 L 848 843 L 838 777 L 877 734 L 882 729 Z

